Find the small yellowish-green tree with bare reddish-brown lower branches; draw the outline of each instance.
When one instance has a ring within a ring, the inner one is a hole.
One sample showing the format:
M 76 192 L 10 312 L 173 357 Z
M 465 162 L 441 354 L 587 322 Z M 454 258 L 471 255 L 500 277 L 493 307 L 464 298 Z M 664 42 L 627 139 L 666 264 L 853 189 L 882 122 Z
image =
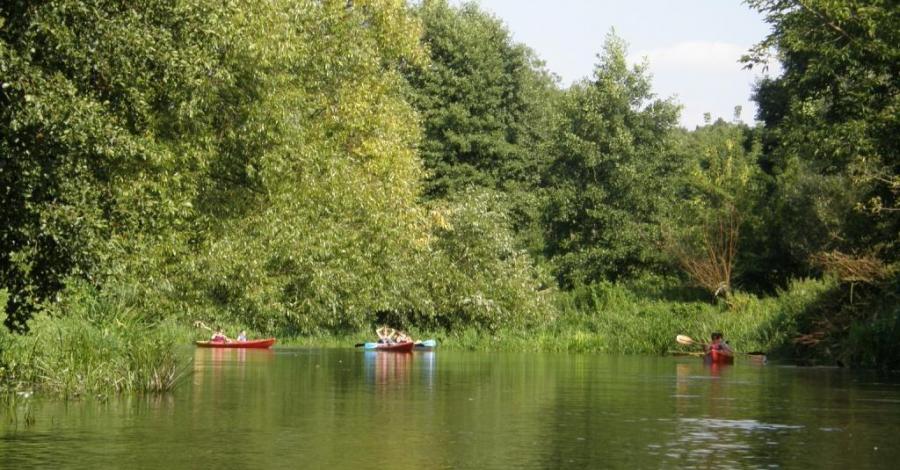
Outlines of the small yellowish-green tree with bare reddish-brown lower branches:
M 770 281 L 769 178 L 751 129 L 719 120 L 685 134 L 680 152 L 678 198 L 663 229 L 668 251 L 714 295 L 729 295 L 734 279 L 750 286 Z

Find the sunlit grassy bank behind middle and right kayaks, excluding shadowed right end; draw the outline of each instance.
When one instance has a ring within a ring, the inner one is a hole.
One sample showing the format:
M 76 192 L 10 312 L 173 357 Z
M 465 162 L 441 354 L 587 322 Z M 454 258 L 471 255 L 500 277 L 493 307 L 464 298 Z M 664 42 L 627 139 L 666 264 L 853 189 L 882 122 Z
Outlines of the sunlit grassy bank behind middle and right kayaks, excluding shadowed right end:
M 833 282 L 803 280 L 778 296 L 736 294 L 732 306 L 686 300 L 666 289 L 597 284 L 556 295 L 553 312 L 529 329 L 416 329 L 416 338 L 435 338 L 442 348 L 507 351 L 572 351 L 609 354 L 667 354 L 685 350 L 675 343 L 684 333 L 706 339 L 725 333 L 739 351 L 781 351 L 810 305 L 835 287 Z M 281 344 L 346 347 L 374 333 L 287 338 Z

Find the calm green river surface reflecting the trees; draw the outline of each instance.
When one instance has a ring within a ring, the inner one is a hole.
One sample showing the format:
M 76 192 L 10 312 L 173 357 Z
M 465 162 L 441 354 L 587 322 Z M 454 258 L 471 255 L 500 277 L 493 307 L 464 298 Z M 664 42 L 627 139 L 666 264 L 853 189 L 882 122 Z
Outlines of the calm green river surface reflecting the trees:
M 0 410 L 0 467 L 900 468 L 897 375 L 440 349 L 185 354 L 171 394 Z

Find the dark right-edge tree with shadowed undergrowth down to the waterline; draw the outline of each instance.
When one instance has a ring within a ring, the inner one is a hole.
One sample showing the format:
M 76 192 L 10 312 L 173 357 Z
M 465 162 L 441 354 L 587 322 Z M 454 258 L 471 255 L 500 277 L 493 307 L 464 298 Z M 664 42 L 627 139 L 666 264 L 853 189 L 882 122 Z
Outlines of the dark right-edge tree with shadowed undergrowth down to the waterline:
M 772 33 L 747 57 L 784 68 L 756 91 L 782 266 L 841 282 L 798 322 L 798 355 L 896 367 L 900 342 L 900 8 L 751 0 Z

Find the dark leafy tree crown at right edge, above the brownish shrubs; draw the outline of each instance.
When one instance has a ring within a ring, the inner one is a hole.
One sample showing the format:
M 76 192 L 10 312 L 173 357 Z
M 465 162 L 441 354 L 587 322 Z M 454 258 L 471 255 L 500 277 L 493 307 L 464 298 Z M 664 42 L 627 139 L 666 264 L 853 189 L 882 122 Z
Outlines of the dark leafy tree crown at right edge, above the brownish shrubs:
M 785 255 L 819 251 L 897 260 L 900 233 L 900 10 L 890 1 L 752 0 L 781 76 L 756 91 L 778 177 Z

